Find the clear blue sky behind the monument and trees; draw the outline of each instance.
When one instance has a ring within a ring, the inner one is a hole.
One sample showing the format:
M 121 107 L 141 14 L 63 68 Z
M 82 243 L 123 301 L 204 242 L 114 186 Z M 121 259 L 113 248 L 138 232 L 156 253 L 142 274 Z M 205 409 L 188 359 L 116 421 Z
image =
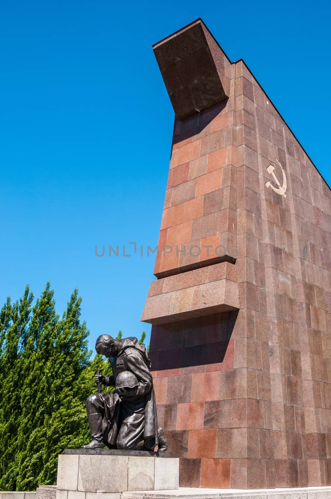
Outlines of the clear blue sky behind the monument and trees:
M 158 242 L 173 110 L 152 43 L 201 17 L 243 58 L 330 173 L 327 1 L 0 1 L 0 303 L 77 286 L 91 347 L 140 336 L 154 259 L 95 245 Z

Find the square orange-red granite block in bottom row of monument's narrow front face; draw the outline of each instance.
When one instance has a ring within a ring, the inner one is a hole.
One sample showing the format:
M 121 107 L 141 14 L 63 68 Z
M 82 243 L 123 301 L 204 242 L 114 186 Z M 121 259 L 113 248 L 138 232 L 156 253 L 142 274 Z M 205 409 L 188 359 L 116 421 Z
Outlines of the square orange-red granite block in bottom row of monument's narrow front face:
M 230 459 L 202 459 L 200 487 L 229 489 L 230 472 Z

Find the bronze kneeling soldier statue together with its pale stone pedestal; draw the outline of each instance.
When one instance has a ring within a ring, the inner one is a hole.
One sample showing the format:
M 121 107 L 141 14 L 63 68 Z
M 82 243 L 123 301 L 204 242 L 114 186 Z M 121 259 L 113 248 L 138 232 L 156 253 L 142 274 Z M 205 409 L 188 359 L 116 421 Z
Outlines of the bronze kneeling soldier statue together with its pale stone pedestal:
M 97 393 L 86 401 L 91 442 L 59 455 L 56 499 L 100 499 L 103 494 L 120 499 L 124 491 L 178 489 L 179 463 L 165 452 L 158 428 L 145 346 L 135 337 L 116 340 L 102 334 L 95 348 L 109 359 L 113 375 L 97 371 Z M 103 393 L 102 385 L 115 390 Z

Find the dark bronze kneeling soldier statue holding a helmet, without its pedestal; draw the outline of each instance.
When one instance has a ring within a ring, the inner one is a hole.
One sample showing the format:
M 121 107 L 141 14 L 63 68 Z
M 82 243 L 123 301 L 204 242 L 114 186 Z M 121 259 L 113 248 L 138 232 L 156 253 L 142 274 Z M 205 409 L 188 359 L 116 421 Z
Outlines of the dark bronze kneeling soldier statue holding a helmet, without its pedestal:
M 145 346 L 135 337 L 115 340 L 102 334 L 95 349 L 109 359 L 113 370 L 109 378 L 97 374 L 95 382 L 97 386 L 114 386 L 115 391 L 87 399 L 92 440 L 82 449 L 106 445 L 110 449 L 153 451 L 158 446 L 159 451 L 166 451 L 163 430 L 158 429 L 151 361 Z

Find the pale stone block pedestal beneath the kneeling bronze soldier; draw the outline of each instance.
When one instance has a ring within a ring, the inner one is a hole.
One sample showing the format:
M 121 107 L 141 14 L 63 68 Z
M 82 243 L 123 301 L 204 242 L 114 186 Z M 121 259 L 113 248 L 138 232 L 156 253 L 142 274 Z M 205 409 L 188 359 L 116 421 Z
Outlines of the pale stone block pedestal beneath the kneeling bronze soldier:
M 174 490 L 178 479 L 179 460 L 171 454 L 68 449 L 58 459 L 56 499 L 119 499 L 124 491 Z

